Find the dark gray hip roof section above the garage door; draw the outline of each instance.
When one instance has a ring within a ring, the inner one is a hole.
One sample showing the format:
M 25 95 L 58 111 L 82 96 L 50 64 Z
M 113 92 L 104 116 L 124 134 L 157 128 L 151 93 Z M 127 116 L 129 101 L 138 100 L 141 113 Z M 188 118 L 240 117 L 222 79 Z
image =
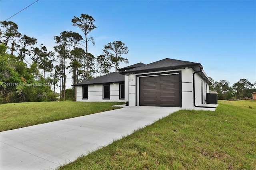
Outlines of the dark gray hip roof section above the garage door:
M 200 63 L 166 58 L 166 59 L 162 59 L 160 61 L 156 61 L 154 63 L 142 65 L 140 67 L 135 67 L 135 68 L 129 69 L 127 71 L 121 71 L 120 73 L 127 75 L 128 73 L 143 73 L 143 72 L 148 72 L 148 71 L 184 69 L 185 67 L 194 67 L 194 66 L 202 67 L 202 65 Z

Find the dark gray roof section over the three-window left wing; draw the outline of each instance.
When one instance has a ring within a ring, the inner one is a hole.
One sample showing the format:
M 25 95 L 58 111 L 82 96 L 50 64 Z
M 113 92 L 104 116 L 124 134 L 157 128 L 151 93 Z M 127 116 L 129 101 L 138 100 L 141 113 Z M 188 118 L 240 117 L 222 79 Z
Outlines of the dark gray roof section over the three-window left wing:
M 78 85 L 90 85 L 90 84 L 102 84 L 102 83 L 116 83 L 124 81 L 124 75 L 119 74 L 119 72 L 109 73 L 107 75 L 102 75 L 94 79 L 83 81 L 81 83 L 74 84 L 72 86 Z

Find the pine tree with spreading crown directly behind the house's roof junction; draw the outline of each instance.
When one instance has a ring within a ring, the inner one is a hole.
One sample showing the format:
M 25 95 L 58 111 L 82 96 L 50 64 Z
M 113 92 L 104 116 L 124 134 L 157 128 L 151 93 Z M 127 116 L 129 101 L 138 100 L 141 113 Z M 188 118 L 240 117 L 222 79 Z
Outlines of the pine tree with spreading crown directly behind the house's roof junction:
M 120 62 L 129 63 L 128 59 L 121 57 L 121 54 L 127 54 L 128 48 L 121 41 L 110 42 L 104 46 L 103 52 L 108 56 L 108 59 L 113 64 L 112 67 L 117 71 Z

